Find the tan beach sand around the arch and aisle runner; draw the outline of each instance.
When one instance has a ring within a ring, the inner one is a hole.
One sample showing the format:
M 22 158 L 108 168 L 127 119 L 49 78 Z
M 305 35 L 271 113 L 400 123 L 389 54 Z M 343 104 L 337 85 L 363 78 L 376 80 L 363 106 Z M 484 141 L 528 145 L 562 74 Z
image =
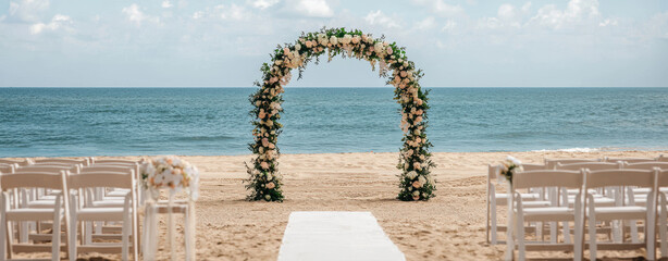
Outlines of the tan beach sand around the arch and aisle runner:
M 654 158 L 661 153 L 668 151 L 438 152 L 432 157 L 437 164 L 433 169 L 437 196 L 426 202 L 395 199 L 398 153 L 282 154 L 279 167 L 286 197 L 282 203 L 245 200 L 244 161 L 249 161 L 250 156 L 182 158 L 201 173 L 198 260 L 276 260 L 293 211 L 370 211 L 407 260 L 500 260 L 505 245 L 485 243 L 488 163 L 503 161 L 508 154 L 524 163 L 542 163 L 544 159 Z M 163 222 L 161 225 L 164 227 Z M 164 238 L 160 246 L 164 248 Z M 180 252 L 183 254 L 183 249 Z M 568 259 L 571 254 L 529 252 L 530 258 L 542 259 Z M 644 254 L 644 250 L 598 252 L 599 258 L 624 260 Z M 90 257 L 119 259 L 108 254 L 79 256 Z M 168 256 L 163 252 L 160 257 Z

